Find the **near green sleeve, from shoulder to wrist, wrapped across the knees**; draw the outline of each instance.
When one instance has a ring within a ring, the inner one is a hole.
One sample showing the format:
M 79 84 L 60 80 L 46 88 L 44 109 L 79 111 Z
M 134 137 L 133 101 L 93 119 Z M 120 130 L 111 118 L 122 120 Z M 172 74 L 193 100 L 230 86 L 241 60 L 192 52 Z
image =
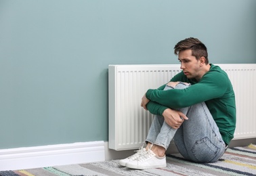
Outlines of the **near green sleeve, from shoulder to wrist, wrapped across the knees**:
M 149 89 L 146 97 L 168 108 L 184 108 L 205 102 L 225 93 L 228 87 L 228 78 L 221 72 L 208 72 L 200 82 L 186 89 Z

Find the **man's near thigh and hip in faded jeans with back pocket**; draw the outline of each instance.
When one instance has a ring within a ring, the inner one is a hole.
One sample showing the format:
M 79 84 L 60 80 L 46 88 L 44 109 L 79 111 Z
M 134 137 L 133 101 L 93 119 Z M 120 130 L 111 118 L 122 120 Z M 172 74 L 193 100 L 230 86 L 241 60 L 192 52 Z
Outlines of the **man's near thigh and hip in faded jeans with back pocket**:
M 205 102 L 179 110 L 188 116 L 173 137 L 179 152 L 195 162 L 216 162 L 226 144 Z

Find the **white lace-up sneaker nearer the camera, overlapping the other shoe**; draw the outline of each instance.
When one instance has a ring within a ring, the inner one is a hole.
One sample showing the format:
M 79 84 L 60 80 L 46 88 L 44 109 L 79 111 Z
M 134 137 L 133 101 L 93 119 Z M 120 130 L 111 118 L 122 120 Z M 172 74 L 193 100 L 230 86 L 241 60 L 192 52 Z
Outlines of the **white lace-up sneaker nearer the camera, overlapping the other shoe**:
M 148 150 L 145 154 L 140 155 L 135 160 L 127 162 L 126 167 L 131 169 L 152 169 L 166 167 L 166 158 L 158 157 L 152 150 Z

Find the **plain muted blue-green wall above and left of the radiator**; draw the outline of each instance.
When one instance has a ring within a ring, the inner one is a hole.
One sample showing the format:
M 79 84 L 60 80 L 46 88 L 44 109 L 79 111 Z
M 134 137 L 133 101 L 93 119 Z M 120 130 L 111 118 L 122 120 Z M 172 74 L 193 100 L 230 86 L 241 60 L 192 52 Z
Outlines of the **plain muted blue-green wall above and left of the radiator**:
M 108 141 L 108 65 L 256 63 L 256 1 L 0 1 L 0 148 Z

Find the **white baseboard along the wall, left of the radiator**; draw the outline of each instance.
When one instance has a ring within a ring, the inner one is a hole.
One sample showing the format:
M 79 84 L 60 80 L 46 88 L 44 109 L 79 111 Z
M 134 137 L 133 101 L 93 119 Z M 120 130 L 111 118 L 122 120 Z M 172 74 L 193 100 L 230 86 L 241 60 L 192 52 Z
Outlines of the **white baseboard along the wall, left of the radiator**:
M 105 160 L 104 141 L 0 150 L 0 171 Z

